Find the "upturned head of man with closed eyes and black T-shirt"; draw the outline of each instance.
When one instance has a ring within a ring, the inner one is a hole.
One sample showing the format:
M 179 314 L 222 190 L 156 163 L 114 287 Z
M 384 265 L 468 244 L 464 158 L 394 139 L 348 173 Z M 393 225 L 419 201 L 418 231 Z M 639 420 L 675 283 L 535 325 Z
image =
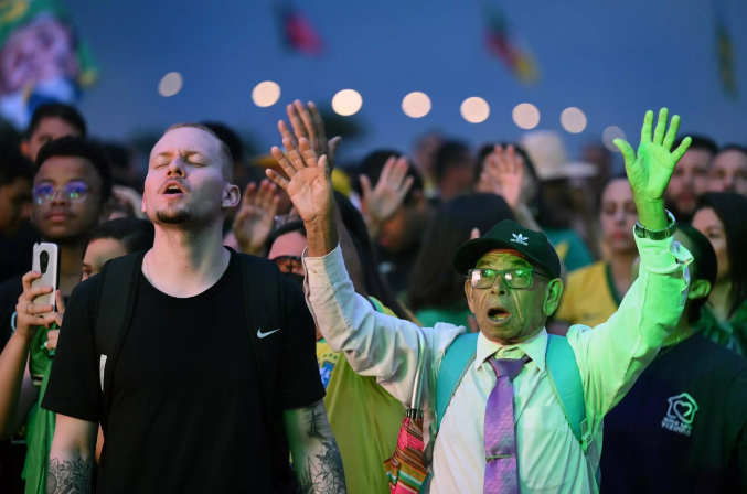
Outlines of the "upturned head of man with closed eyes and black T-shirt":
M 204 227 L 222 222 L 239 192 L 225 176 L 220 142 L 204 130 L 170 130 L 153 147 L 142 212 L 156 225 Z

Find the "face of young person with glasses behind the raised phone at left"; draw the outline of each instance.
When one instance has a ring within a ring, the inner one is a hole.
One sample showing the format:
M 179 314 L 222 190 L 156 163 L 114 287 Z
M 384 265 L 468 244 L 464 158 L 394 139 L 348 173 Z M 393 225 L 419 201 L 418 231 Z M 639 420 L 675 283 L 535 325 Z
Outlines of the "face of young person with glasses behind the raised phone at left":
M 33 222 L 47 241 L 85 237 L 102 216 L 102 178 L 85 158 L 52 157 L 34 176 Z

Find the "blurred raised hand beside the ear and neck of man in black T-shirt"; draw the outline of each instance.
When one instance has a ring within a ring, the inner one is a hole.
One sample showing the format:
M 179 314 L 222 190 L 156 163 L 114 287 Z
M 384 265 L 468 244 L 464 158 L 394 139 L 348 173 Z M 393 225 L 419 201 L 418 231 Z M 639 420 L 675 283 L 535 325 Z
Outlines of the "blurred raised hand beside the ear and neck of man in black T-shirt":
M 233 226 L 242 253 L 255 256 L 263 253 L 278 210 L 276 189 L 273 182 L 263 180 L 258 187 L 256 183 L 250 183 L 244 191 Z

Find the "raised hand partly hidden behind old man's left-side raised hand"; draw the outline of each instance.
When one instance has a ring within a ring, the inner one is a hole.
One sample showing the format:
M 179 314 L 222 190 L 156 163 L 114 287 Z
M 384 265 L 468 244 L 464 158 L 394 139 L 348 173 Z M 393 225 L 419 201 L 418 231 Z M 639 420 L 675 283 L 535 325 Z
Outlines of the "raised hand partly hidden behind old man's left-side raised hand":
M 285 121 L 278 121 L 278 130 L 284 139 L 294 141 L 294 146 L 298 147 L 298 141 L 306 138 L 318 157 L 326 155 L 330 172 L 334 170 L 334 153 L 338 144 L 342 140 L 341 137 L 333 137 L 327 140 L 327 131 L 324 130 L 324 121 L 321 114 L 313 101 L 309 101 L 307 106 L 300 100 L 295 100 L 292 105 L 286 107 L 288 112 L 288 120 L 294 128 L 292 133 L 288 129 Z

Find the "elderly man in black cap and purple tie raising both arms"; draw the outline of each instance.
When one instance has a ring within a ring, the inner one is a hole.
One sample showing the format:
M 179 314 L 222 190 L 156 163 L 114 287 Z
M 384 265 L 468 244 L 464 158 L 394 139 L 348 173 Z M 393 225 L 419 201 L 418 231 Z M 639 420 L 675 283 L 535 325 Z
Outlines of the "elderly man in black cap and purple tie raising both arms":
M 543 234 L 513 222 L 467 241 L 453 258 L 467 276 L 478 334 L 376 313 L 344 269 L 326 157 L 317 159 L 306 140 L 299 149 L 284 140 L 287 158 L 273 149 L 290 180 L 268 176 L 306 224 L 307 301 L 329 345 L 407 405 L 418 364 L 425 368 L 430 493 L 598 492 L 602 418 L 675 327 L 687 291 L 692 256 L 672 241 L 663 193 L 690 142 L 670 152 L 680 119 L 669 131 L 663 109 L 652 139 L 653 114 L 645 115 L 638 153 L 618 141 L 639 212 L 640 277 L 609 321 L 573 326 L 567 339 L 544 327 L 563 292 L 557 255 Z

